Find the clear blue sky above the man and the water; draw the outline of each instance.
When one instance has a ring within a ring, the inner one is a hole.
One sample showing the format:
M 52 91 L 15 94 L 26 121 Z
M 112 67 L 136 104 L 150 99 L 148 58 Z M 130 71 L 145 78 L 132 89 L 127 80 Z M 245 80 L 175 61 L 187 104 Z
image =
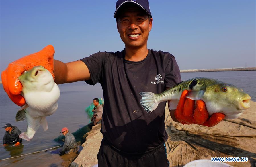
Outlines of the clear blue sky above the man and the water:
M 54 46 L 71 62 L 124 44 L 113 18 L 116 1 L 0 1 L 1 71 Z M 173 54 L 180 69 L 255 67 L 255 1 L 149 1 L 148 48 Z

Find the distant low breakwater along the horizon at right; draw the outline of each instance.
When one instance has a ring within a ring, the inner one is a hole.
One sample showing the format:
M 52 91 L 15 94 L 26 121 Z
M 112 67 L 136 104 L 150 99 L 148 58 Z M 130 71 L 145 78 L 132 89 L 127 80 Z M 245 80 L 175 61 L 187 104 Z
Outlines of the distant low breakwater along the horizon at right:
M 190 72 L 215 72 L 215 71 L 253 71 L 256 67 L 237 67 L 237 68 L 218 68 L 218 69 L 185 69 L 180 70 L 181 73 Z

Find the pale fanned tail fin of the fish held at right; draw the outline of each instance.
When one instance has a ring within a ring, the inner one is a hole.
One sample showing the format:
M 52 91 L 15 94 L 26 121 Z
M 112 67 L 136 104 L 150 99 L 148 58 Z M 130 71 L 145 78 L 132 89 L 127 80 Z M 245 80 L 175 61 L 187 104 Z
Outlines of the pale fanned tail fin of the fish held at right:
M 140 104 L 147 111 L 152 112 L 157 108 L 159 102 L 156 101 L 156 94 L 152 92 L 140 92 L 140 96 L 142 99 L 140 100 Z

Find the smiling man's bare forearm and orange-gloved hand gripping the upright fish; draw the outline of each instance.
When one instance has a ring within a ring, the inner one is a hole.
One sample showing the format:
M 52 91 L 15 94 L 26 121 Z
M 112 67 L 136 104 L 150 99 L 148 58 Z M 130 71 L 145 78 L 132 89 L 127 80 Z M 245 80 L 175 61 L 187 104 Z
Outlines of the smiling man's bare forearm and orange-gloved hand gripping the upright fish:
M 48 45 L 41 51 L 24 56 L 8 65 L 2 72 L 1 78 L 3 88 L 9 98 L 17 105 L 23 106 L 25 99 L 21 96 L 22 85 L 19 82 L 19 76 L 26 70 L 34 66 L 41 65 L 48 69 L 55 77 L 57 84 L 70 83 L 90 79 L 90 73 L 87 66 L 81 61 L 63 63 L 54 60 L 54 48 Z

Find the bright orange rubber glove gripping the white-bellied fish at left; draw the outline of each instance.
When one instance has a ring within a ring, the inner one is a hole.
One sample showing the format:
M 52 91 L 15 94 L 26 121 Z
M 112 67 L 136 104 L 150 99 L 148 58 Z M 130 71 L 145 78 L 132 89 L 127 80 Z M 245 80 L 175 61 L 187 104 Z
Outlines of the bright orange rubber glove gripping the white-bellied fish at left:
M 18 77 L 26 70 L 33 68 L 34 66 L 42 65 L 48 69 L 54 78 L 53 74 L 53 55 L 54 48 L 52 45 L 48 45 L 37 53 L 24 56 L 8 65 L 5 71 L 2 72 L 2 84 L 5 92 L 9 98 L 17 105 L 23 106 L 25 99 L 21 96 L 22 85 L 18 80 Z

